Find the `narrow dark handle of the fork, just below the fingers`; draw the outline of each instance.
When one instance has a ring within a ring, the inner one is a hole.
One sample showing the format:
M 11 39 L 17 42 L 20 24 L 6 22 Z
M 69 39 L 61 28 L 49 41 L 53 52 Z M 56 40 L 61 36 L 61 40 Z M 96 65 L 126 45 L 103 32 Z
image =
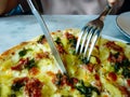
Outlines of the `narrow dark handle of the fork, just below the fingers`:
M 109 4 L 107 4 L 104 9 L 104 11 L 101 13 L 101 15 L 99 16 L 99 18 L 101 20 L 104 20 L 104 18 L 106 17 L 107 14 L 109 14 L 109 12 L 112 11 L 112 6 Z

